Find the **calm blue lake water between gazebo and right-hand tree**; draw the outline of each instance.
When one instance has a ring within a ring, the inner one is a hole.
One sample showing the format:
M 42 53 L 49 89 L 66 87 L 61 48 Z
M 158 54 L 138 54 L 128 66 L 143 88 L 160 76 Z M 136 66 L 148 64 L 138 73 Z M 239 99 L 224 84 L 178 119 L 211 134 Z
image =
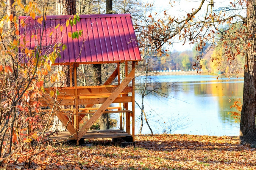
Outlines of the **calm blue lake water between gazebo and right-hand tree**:
M 163 90 L 169 98 L 149 94 L 144 99 L 144 109 L 154 133 L 235 136 L 239 135 L 239 123 L 228 115 L 233 101 L 243 96 L 243 77 L 225 78 L 212 75 L 156 76 L 152 80 L 160 85 L 173 84 Z M 143 77 L 136 82 L 142 82 Z M 135 100 L 141 103 L 136 91 Z M 135 107 L 135 134 L 140 128 L 140 109 Z M 149 134 L 144 121 L 143 134 Z

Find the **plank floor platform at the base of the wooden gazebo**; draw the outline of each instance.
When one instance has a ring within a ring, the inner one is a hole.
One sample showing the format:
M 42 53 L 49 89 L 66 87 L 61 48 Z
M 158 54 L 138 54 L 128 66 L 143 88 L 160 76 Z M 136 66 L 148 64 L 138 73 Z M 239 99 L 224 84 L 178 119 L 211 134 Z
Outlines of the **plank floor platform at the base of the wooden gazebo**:
M 87 131 L 82 137 L 84 139 L 96 139 L 96 138 L 116 138 L 116 137 L 126 137 L 128 135 L 125 131 L 120 129 L 109 129 L 109 130 L 93 130 Z M 51 139 L 55 140 L 71 140 L 74 139 L 68 131 L 58 132 L 57 135 L 52 136 Z

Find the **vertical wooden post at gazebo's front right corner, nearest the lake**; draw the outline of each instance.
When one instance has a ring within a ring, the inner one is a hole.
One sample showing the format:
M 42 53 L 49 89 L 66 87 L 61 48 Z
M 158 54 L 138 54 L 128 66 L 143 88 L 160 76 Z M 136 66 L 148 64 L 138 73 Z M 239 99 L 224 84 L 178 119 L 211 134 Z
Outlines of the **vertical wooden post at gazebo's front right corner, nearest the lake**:
M 132 70 L 135 69 L 135 62 L 132 61 Z M 132 140 L 135 141 L 135 73 L 132 79 Z

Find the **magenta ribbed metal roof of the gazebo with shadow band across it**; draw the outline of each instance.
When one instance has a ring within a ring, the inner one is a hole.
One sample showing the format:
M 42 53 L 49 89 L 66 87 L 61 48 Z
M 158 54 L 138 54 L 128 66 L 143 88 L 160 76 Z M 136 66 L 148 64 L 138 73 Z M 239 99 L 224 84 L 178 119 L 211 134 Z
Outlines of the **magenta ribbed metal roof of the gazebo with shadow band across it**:
M 79 16 L 80 22 L 73 27 L 66 27 L 70 15 L 46 16 L 45 24 L 38 23 L 38 16 L 35 20 L 19 16 L 20 42 L 24 44 L 25 39 L 25 46 L 32 50 L 41 44 L 43 53 L 52 51 L 55 44 L 65 44 L 67 48 L 62 51 L 60 47 L 61 58 L 58 57 L 55 64 L 141 60 L 130 14 Z M 23 26 L 22 22 L 25 23 Z M 60 26 L 56 28 L 58 24 Z M 79 30 L 83 30 L 79 39 L 68 36 L 68 32 Z

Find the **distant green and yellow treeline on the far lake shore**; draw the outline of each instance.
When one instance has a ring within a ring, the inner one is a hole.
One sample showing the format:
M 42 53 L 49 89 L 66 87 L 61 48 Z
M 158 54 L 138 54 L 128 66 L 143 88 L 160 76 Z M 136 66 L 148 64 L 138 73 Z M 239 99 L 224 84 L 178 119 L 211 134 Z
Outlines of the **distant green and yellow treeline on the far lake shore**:
M 161 57 L 157 57 L 154 53 L 149 53 L 144 57 L 144 63 L 148 62 L 151 71 L 201 68 L 212 74 L 243 72 L 244 56 L 238 55 L 230 65 L 231 61 L 225 58 L 222 51 L 222 47 L 213 48 L 210 45 L 205 45 L 201 51 L 197 51 L 194 47 L 193 50 L 182 52 L 176 50 L 163 52 Z

